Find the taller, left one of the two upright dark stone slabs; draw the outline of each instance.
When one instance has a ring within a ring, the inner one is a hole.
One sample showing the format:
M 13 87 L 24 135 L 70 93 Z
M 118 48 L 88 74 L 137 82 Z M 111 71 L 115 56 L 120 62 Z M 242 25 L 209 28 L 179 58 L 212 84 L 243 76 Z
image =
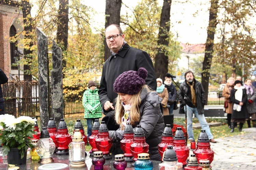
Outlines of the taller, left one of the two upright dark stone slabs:
M 47 126 L 50 113 L 48 37 L 37 28 L 40 127 Z

